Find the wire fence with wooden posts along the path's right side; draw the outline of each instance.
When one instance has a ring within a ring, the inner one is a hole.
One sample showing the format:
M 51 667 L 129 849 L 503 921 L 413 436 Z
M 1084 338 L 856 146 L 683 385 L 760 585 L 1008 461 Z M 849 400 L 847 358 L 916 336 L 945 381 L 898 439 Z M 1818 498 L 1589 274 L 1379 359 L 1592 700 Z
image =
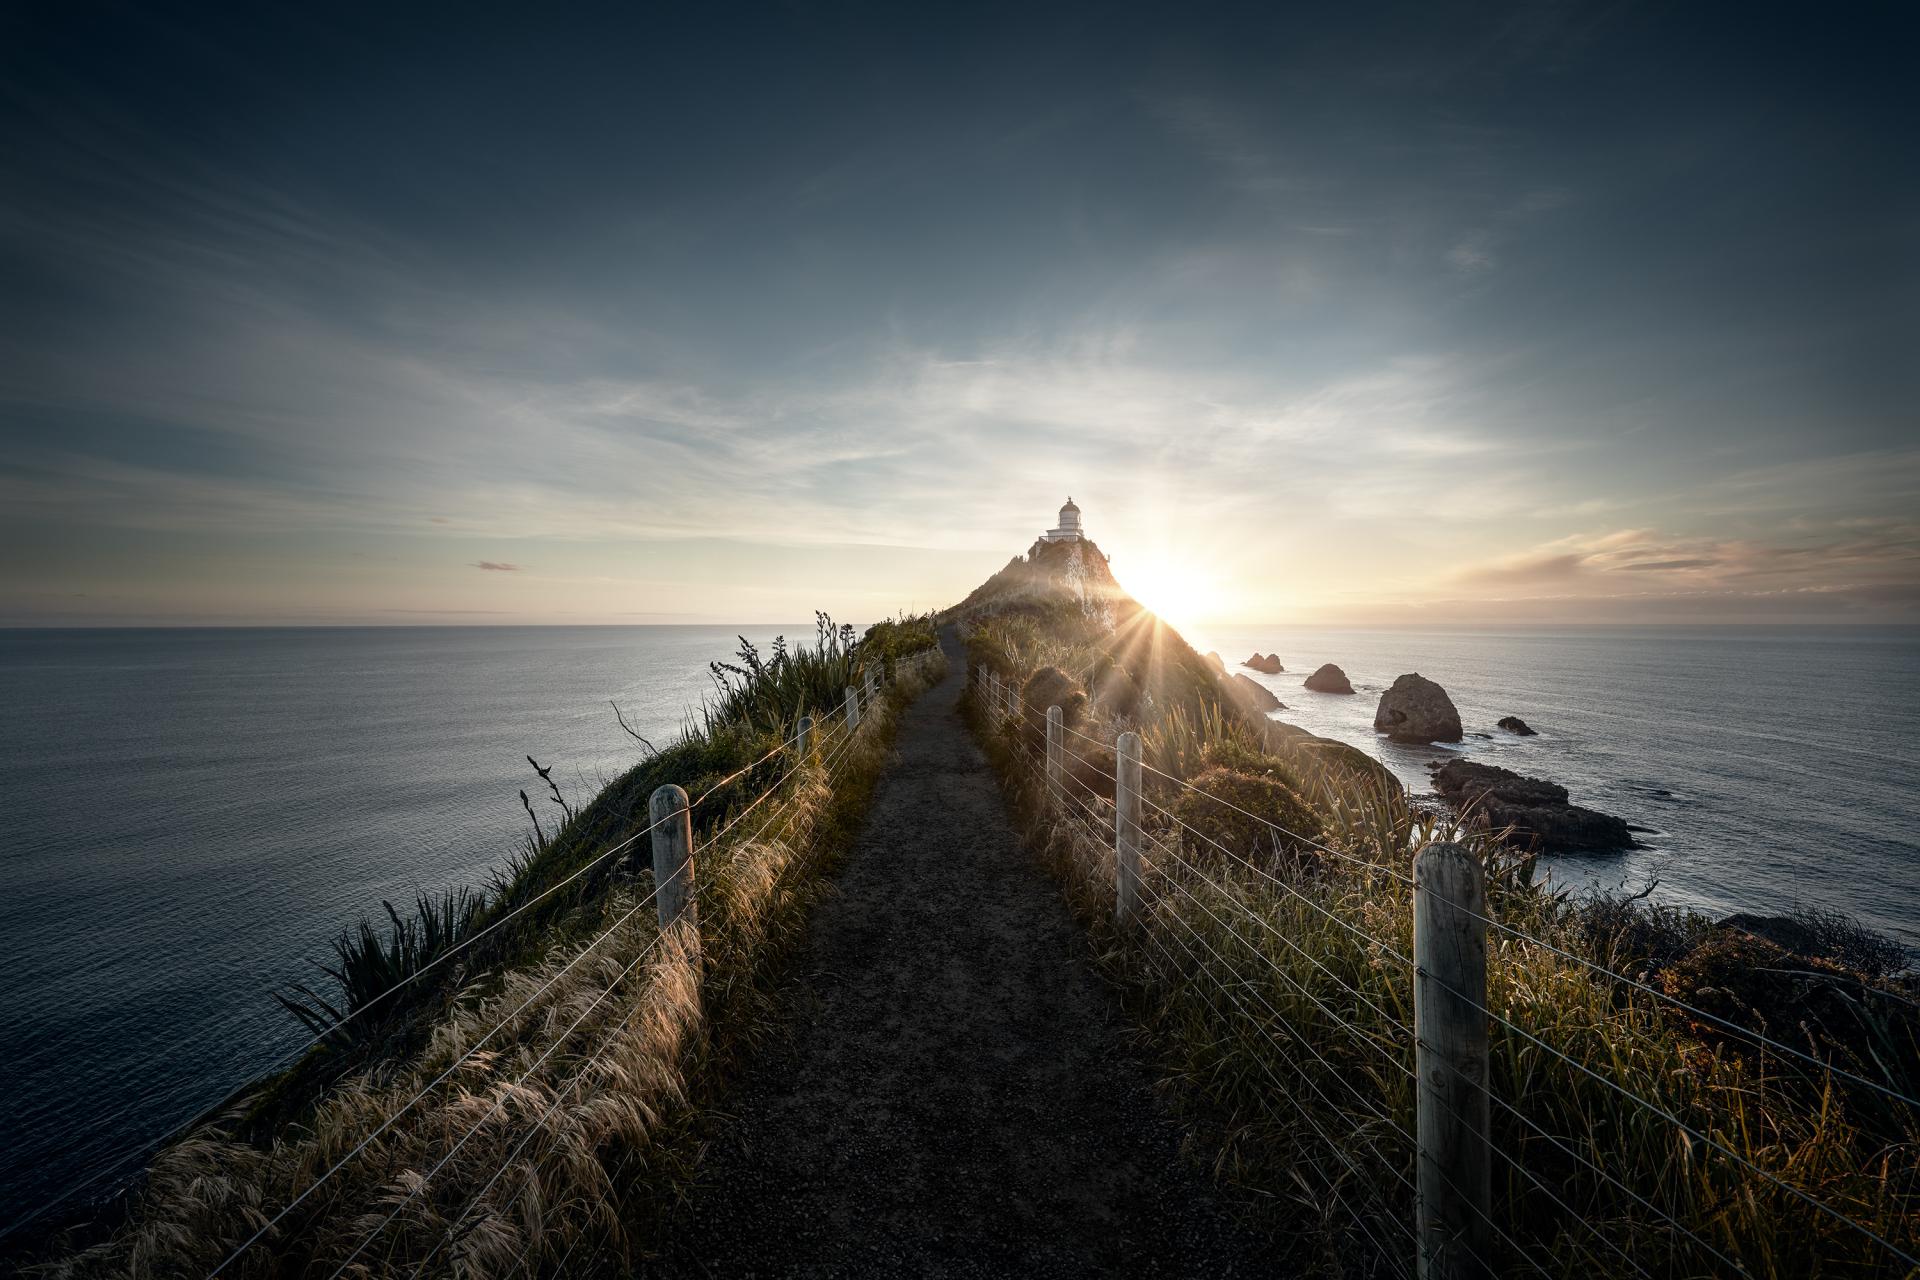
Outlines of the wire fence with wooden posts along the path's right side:
M 1160 1017 L 1194 1023 L 1175 1042 L 1202 1046 L 1208 1088 L 1275 1121 L 1286 1176 L 1311 1178 L 1371 1270 L 1920 1274 L 1920 1102 L 1891 1073 L 1540 936 L 1503 889 L 1490 904 L 1461 844 L 1363 856 L 1140 760 L 1135 733 L 1089 735 L 972 677 L 1087 885 L 1114 892 L 1139 862 L 1142 906 L 1106 908 L 1119 954 Z M 1202 810 L 1267 839 L 1223 839 Z M 1659 1034 L 1672 1025 L 1693 1038 Z M 1768 1111 L 1782 1080 L 1791 1123 Z M 1891 1111 L 1889 1132 L 1855 1100 Z

